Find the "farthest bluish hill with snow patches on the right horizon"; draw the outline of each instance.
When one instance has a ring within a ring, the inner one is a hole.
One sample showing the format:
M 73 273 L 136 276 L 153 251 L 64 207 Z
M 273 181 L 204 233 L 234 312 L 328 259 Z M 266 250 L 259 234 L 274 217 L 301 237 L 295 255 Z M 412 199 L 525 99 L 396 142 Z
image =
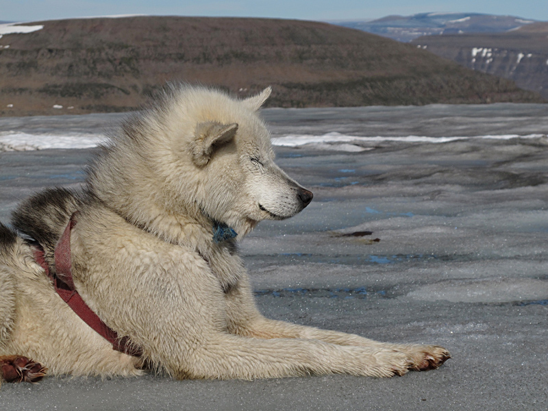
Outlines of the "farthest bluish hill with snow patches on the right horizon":
M 373 21 L 334 22 L 401 42 L 438 34 L 508 32 L 531 23 L 535 21 L 479 13 L 421 13 L 413 16 L 386 16 Z

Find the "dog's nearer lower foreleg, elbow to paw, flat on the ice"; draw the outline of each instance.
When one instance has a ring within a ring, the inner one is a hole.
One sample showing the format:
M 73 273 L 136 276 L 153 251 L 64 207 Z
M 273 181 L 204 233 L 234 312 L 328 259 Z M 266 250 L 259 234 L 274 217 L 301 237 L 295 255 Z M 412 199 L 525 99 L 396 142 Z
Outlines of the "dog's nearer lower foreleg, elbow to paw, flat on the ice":
M 245 338 L 216 333 L 197 342 L 175 377 L 199 379 L 256 379 L 346 373 L 391 377 L 407 373 L 411 360 L 390 349 L 343 347 L 299 338 Z

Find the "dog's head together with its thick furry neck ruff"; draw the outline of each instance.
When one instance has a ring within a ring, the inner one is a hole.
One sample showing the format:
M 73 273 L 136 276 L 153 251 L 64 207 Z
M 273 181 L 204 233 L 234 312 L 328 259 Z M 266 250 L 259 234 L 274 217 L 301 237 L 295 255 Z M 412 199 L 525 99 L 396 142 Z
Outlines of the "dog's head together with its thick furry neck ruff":
M 152 231 L 207 216 L 241 238 L 259 221 L 294 216 L 312 192 L 274 162 L 258 115 L 270 93 L 240 100 L 204 87 L 166 88 L 103 147 L 88 171 L 91 192 Z

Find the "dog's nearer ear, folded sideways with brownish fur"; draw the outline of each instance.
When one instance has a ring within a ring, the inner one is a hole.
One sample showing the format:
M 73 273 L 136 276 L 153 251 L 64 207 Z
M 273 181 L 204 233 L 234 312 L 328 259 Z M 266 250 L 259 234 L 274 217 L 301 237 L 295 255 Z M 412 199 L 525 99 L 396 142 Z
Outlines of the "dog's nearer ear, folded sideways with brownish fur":
M 197 166 L 205 166 L 211 158 L 215 145 L 229 142 L 236 136 L 238 124 L 222 124 L 216 121 L 198 123 L 195 128 L 195 139 L 192 141 L 192 160 Z

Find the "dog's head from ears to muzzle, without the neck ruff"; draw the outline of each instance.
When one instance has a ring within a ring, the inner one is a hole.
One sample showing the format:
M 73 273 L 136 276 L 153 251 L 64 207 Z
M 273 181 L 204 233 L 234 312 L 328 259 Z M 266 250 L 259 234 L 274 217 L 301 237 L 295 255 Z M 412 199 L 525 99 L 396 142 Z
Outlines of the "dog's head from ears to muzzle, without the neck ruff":
M 270 94 L 266 88 L 238 100 L 192 88 L 183 90 L 174 106 L 182 110 L 178 117 L 183 123 L 177 127 L 171 121 L 178 134 L 173 160 L 179 197 L 192 199 L 204 214 L 238 234 L 247 234 L 264 219 L 294 216 L 312 201 L 312 192 L 274 162 L 269 131 L 258 116 Z

